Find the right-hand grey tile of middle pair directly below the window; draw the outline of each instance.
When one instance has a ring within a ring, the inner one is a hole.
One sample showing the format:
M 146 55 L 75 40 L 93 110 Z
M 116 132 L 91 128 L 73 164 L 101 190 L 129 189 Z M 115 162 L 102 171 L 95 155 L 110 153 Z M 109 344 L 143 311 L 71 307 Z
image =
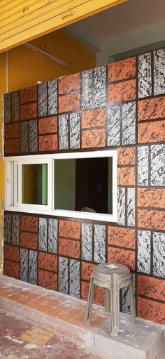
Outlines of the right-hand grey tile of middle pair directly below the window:
M 58 220 L 48 219 L 48 252 L 57 253 Z

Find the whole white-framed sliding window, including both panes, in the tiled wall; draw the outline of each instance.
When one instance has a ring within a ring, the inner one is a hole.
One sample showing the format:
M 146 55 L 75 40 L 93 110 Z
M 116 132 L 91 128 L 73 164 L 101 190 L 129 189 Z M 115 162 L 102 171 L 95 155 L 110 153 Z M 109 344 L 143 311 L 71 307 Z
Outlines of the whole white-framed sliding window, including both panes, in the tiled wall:
M 6 210 L 117 221 L 117 151 L 6 157 Z

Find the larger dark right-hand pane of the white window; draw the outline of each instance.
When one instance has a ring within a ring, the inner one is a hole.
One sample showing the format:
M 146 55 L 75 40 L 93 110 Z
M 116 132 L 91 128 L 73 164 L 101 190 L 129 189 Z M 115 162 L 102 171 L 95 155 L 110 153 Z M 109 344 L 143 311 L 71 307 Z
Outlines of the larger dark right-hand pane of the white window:
M 113 159 L 55 160 L 55 209 L 113 213 Z

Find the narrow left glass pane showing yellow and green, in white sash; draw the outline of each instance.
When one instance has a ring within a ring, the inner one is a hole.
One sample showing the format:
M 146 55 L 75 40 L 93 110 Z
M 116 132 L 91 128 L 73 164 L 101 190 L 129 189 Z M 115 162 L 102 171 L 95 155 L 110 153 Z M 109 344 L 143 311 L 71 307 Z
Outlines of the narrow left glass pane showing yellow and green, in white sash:
M 48 204 L 48 164 L 22 164 L 22 203 Z

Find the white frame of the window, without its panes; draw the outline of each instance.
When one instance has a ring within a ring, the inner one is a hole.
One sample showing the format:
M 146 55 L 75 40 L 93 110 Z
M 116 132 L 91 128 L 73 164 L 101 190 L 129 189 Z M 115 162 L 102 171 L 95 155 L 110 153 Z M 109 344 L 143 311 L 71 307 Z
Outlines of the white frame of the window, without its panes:
M 78 159 L 78 158 L 113 158 L 113 214 L 100 214 L 85 211 L 69 211 L 55 209 L 55 185 L 54 185 L 54 161 L 55 159 Z M 96 221 L 117 222 L 117 150 L 96 150 L 92 152 L 63 152 L 48 155 L 30 155 L 5 157 L 5 209 L 6 211 L 20 211 L 51 216 L 69 218 L 92 219 Z M 14 162 L 14 183 L 11 176 L 11 162 Z M 22 164 L 48 164 L 48 205 L 23 204 L 22 203 Z M 18 166 L 18 195 L 17 195 L 17 166 Z M 12 186 L 14 186 L 14 204 Z M 18 198 L 18 200 L 17 200 Z

